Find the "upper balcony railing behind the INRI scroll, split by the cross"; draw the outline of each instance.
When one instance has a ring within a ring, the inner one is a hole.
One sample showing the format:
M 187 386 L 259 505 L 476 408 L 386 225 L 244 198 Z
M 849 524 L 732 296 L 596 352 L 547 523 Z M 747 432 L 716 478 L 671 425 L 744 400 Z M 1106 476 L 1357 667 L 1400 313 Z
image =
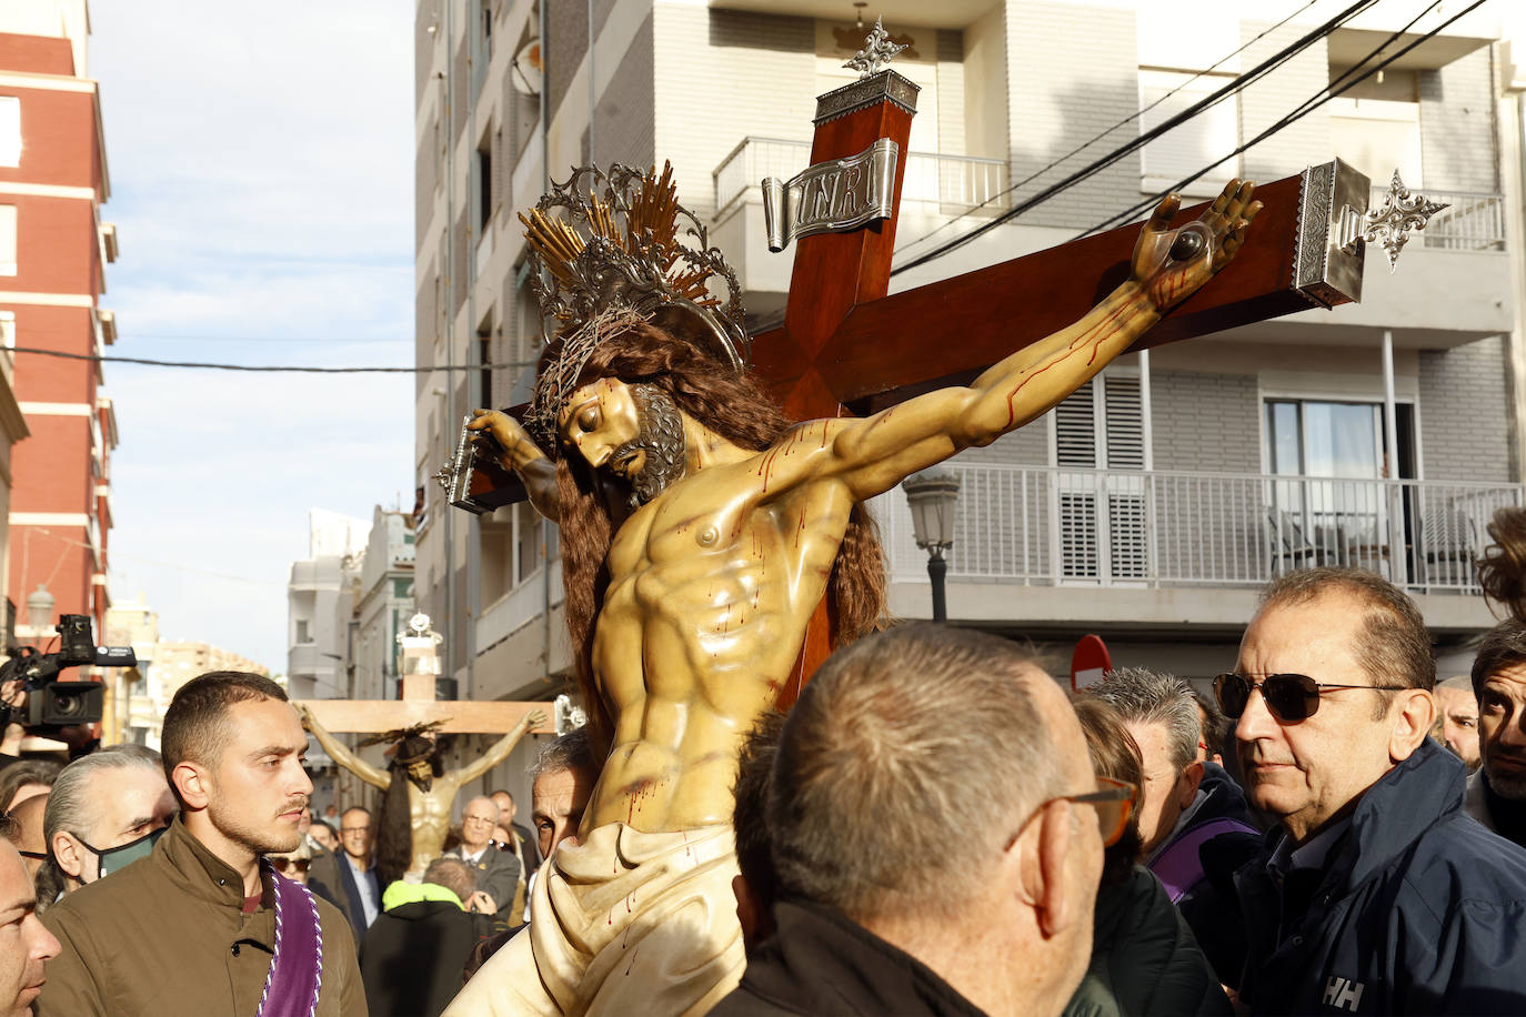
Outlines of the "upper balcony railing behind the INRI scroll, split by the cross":
M 745 137 L 714 171 L 716 218 L 742 200 L 760 200 L 758 184 L 765 177 L 789 180 L 810 165 L 810 142 L 789 142 L 777 137 Z M 906 180 L 900 201 L 937 204 L 946 213 L 1000 212 L 1007 207 L 1007 163 L 1003 159 L 978 156 L 943 156 L 940 152 L 908 152 Z

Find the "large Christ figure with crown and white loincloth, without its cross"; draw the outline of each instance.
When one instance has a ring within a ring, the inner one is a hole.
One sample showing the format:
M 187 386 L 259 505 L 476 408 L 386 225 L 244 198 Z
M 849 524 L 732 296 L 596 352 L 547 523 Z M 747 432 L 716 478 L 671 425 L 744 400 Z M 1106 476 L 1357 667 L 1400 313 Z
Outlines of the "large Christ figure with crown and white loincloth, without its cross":
M 737 749 L 798 680 L 818 604 L 830 605 L 829 639 L 879 621 L 884 564 L 862 502 L 1045 413 L 1230 264 L 1260 210 L 1254 186 L 1233 181 L 1172 227 L 1167 198 L 1126 278 L 1077 322 L 969 384 L 792 422 L 743 366 L 736 279 L 703 227 L 690 218 L 699 244 L 678 241 L 674 191 L 667 174 L 584 168 L 540 201 L 526 232 L 551 278 L 542 310 L 560 328 L 523 424 L 484 410 L 470 425 L 560 523 L 577 679 L 604 767 L 578 843 L 536 883 L 531 933 L 452 1012 L 617 1000 L 703 1012 L 729 991 L 743 965 L 726 906 Z M 729 288 L 725 305 L 711 276 Z M 693 919 L 658 919 L 681 909 Z

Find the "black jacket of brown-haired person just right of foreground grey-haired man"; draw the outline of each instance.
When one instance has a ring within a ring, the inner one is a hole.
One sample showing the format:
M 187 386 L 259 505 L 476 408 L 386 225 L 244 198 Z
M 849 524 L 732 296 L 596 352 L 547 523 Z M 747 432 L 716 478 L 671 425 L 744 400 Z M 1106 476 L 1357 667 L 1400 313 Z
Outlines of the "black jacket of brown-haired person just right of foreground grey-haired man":
M 1091 965 L 1065 1017 L 1230 1014 L 1230 1000 L 1149 869 L 1103 886 L 1091 932 Z

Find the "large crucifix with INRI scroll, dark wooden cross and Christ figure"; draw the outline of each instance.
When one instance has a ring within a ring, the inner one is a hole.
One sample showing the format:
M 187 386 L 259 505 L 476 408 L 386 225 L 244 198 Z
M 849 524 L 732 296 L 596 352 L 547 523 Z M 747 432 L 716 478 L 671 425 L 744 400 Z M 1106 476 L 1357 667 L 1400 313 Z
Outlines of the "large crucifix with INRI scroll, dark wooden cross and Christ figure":
M 887 296 L 914 105 L 890 70 L 818 99 L 813 165 L 765 181 L 771 245 L 800 247 L 784 325 L 751 343 L 668 171 L 581 168 L 520 217 L 549 337 L 534 398 L 478 410 L 446 483 L 473 511 L 517 486 L 560 525 L 604 765 L 530 930 L 447 1014 L 705 1012 L 743 967 L 739 744 L 882 614 L 864 500 L 1041 416 L 1131 346 L 1360 296 L 1366 178 L 1338 162 Z

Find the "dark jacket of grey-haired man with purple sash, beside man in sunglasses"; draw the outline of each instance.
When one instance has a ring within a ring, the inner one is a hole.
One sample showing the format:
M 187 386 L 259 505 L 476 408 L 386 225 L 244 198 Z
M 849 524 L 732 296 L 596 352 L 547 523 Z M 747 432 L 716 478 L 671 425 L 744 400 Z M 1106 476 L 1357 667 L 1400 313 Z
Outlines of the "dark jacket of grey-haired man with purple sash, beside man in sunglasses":
M 1233 880 L 1215 883 L 1202 858 L 1213 857 L 1213 868 L 1230 877 L 1260 854 L 1260 845 L 1262 834 L 1245 805 L 1245 793 L 1224 767 L 1206 762 L 1198 797 L 1148 861 L 1151 872 L 1178 887 L 1175 904 L 1181 916 L 1219 980 L 1230 985 L 1239 980 L 1245 967 L 1245 921 Z M 1184 858 L 1184 852 L 1190 857 Z M 1190 874 L 1183 863 L 1190 866 Z

